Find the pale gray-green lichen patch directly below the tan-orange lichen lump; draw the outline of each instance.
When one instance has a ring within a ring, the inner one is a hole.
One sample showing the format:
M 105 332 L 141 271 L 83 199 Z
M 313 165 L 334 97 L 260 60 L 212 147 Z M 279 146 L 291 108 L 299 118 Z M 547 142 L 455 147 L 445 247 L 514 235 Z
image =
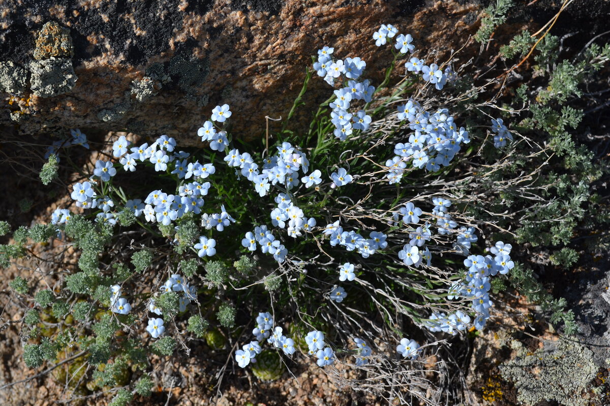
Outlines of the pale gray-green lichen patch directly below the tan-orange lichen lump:
M 32 72 L 31 89 L 35 96 L 53 97 L 69 92 L 78 79 L 74 74 L 72 61 L 51 57 L 30 63 Z

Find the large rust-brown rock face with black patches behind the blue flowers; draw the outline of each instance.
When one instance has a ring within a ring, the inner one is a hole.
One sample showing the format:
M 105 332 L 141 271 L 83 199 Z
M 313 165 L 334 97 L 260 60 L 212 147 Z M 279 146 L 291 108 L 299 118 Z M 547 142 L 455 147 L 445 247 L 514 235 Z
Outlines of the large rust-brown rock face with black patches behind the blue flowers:
M 478 29 L 486 5 L 479 3 L 0 0 L 0 61 L 28 68 L 34 58 L 57 57 L 71 60 L 78 77 L 71 89 L 70 80 L 59 78 L 65 82 L 60 91 L 26 90 L 20 97 L 29 99 L 27 110 L 16 114 L 23 103 L 5 104 L 0 124 L 14 124 L 10 117 L 18 116 L 24 133 L 124 129 L 145 136 L 167 133 L 194 145 L 212 108 L 229 103 L 232 132 L 259 136 L 265 116 L 287 115 L 319 47 L 334 46 L 341 58 L 363 58 L 368 77 L 379 83 L 392 57 L 387 47 L 380 50 L 371 41 L 381 23 L 410 32 L 419 57 L 442 60 Z M 540 26 L 556 4 L 540 0 L 530 9 L 512 24 L 520 29 L 534 16 Z M 472 56 L 467 54 L 462 60 Z M 320 78 L 312 79 L 304 98 L 310 108 L 297 111 L 292 128 L 309 121 L 310 110 L 329 90 Z

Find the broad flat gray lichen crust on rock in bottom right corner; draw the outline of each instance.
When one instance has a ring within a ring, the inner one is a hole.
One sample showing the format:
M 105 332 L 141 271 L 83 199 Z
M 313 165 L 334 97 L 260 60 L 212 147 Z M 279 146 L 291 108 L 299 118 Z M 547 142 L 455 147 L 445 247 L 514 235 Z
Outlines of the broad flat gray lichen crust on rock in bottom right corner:
M 511 346 L 517 357 L 500 365 L 500 371 L 514 382 L 519 402 L 534 405 L 554 399 L 562 405 L 588 405 L 582 393 L 597 371 L 589 349 L 564 340 L 547 343 L 533 353 L 516 340 Z

